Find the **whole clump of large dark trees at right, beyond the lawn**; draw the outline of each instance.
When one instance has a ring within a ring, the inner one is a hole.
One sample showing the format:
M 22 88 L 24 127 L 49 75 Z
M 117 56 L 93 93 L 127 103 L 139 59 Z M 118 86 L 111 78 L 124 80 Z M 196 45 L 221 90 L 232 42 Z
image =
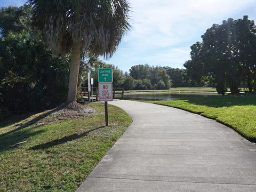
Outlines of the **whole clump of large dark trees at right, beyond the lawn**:
M 244 85 L 256 91 L 256 26 L 247 16 L 214 24 L 202 35 L 203 42 L 192 45 L 186 61 L 186 79 L 190 85 L 216 84 L 219 94 L 239 93 Z

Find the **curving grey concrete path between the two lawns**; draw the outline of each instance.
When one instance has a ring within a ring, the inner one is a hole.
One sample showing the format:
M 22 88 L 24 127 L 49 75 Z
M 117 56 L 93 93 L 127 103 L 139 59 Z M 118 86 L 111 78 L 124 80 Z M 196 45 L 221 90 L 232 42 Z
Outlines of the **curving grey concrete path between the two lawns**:
M 133 123 L 77 191 L 256 191 L 256 147 L 211 119 L 118 100 Z

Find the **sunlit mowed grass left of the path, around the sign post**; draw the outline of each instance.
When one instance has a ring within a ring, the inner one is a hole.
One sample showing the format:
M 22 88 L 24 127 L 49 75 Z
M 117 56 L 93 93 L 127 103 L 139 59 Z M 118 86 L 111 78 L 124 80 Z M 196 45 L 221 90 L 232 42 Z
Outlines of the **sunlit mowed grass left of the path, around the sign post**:
M 48 125 L 1 123 L 0 191 L 75 191 L 132 122 L 110 105 L 106 127 L 103 103 L 89 107 L 97 113 Z

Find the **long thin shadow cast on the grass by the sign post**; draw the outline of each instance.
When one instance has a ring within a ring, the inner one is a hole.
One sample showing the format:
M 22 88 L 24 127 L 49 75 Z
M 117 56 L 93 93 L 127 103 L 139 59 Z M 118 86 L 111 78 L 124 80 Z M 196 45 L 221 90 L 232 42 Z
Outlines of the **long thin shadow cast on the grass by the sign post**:
M 46 143 L 43 143 L 43 144 L 40 144 L 40 145 L 36 145 L 34 147 L 31 147 L 30 149 L 37 150 L 37 149 L 46 149 L 46 148 L 54 147 L 54 146 L 60 145 L 62 143 L 66 143 L 68 141 L 72 141 L 72 140 L 75 140 L 75 139 L 79 139 L 79 138 L 85 137 L 90 132 L 93 132 L 95 130 L 101 129 L 103 127 L 105 127 L 105 126 L 100 126 L 100 127 L 91 129 L 91 130 L 86 131 L 86 132 L 84 132 L 82 134 L 71 134 L 71 135 L 63 137 L 61 139 L 56 139 L 56 140 L 53 140 L 53 141 L 50 141 L 50 142 L 46 142 Z

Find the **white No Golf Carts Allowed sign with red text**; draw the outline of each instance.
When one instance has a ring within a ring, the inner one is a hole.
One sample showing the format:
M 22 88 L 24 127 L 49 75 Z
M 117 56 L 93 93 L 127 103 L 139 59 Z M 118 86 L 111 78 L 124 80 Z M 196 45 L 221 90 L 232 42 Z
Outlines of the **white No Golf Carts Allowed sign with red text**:
M 99 101 L 113 101 L 112 83 L 99 83 Z

